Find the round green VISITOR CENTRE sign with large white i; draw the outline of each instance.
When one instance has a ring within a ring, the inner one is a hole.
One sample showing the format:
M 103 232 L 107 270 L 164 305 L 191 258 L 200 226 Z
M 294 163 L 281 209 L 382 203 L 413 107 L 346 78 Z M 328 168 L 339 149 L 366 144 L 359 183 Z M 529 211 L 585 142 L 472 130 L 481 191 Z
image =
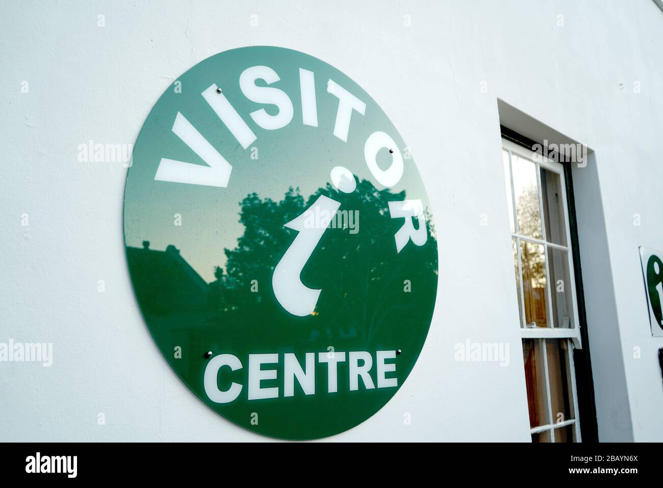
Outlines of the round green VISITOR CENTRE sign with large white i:
M 294 50 L 229 50 L 180 76 L 141 129 L 131 282 L 213 410 L 268 436 L 331 436 L 382 408 L 424 345 L 430 211 L 410 149 L 355 82 Z

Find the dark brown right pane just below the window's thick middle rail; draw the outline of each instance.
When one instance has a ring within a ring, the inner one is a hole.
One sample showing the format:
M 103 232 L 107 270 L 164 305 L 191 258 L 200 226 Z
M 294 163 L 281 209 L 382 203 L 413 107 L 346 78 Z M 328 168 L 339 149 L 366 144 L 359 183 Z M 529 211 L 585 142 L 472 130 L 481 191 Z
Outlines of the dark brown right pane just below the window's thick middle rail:
M 568 339 L 548 339 L 546 354 L 548 356 L 552 422 L 556 424 L 573 418 Z

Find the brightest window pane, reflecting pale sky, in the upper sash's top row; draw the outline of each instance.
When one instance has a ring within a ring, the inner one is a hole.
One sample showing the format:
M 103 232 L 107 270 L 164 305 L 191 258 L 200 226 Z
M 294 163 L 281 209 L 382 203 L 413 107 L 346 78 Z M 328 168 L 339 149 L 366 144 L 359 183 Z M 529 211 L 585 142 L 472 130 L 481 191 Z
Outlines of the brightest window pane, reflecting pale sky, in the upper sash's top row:
M 540 239 L 542 238 L 541 212 L 536 183 L 536 165 L 532 161 L 512 153 L 511 170 L 516 199 L 518 234 Z

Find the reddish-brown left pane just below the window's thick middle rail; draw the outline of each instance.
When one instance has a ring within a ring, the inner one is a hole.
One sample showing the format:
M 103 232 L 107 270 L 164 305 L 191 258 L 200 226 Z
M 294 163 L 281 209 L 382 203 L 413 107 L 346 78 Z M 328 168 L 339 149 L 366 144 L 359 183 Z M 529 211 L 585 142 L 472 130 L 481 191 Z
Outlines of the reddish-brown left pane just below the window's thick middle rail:
M 548 424 L 548 400 L 546 376 L 539 339 L 523 339 L 522 358 L 525 363 L 527 403 L 530 411 L 530 427 Z

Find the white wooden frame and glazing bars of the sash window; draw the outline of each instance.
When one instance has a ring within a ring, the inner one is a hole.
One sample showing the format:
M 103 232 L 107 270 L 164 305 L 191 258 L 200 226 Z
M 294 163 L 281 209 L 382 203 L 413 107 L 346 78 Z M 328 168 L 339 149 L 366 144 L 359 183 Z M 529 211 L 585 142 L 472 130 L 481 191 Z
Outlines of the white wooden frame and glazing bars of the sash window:
M 546 307 L 546 320 L 551 327 L 536 327 L 535 329 L 527 327 L 519 327 L 520 335 L 522 339 L 533 339 L 539 341 L 541 347 L 541 353 L 543 358 L 543 374 L 546 379 L 545 384 L 545 394 L 546 401 L 548 402 L 546 411 L 548 412 L 548 423 L 542 426 L 537 426 L 530 428 L 531 434 L 540 434 L 542 432 L 548 432 L 550 435 L 550 442 L 555 442 L 555 432 L 556 428 L 561 428 L 565 426 L 573 425 L 573 430 L 575 433 L 575 441 L 581 442 L 580 435 L 580 418 L 578 414 L 577 406 L 577 391 L 575 386 L 575 367 L 573 364 L 573 349 L 581 349 L 582 342 L 580 338 L 580 321 L 578 319 L 578 310 L 577 310 L 577 295 L 575 294 L 575 272 L 573 270 L 573 254 L 571 249 L 571 230 L 569 224 L 569 214 L 568 206 L 566 201 L 566 179 L 564 177 L 564 166 L 557 161 L 552 161 L 548 157 L 536 153 L 532 149 L 526 149 L 521 145 L 518 145 L 507 139 L 502 139 L 502 148 L 509 153 L 509 178 L 511 179 L 511 208 L 513 212 L 513 222 L 514 222 L 514 232 L 509 232 L 511 234 L 511 239 L 516 238 L 516 252 L 518 257 L 518 283 L 516 285 L 520 287 L 520 323 L 525 324 L 525 303 L 524 303 L 524 290 L 522 289 L 522 264 L 520 262 L 520 240 L 526 240 L 528 242 L 534 242 L 535 244 L 541 244 L 544 247 L 544 256 L 546 261 L 546 287 L 548 288 L 547 294 L 547 307 Z M 524 159 L 532 161 L 536 165 L 536 184 L 537 184 L 537 193 L 539 197 L 539 212 L 541 218 L 541 232 L 542 238 L 532 238 L 530 236 L 524 236 L 518 233 L 518 216 L 516 214 L 517 206 L 516 199 L 514 197 L 514 185 L 513 185 L 513 171 L 512 171 L 512 162 L 511 156 L 516 154 Z M 503 162 L 504 163 L 504 162 Z M 542 197 L 542 187 L 541 187 L 541 171 L 540 169 L 544 168 L 553 173 L 557 173 L 560 176 L 560 193 L 562 194 L 562 209 L 564 211 L 564 230 L 566 232 L 566 246 L 555 244 L 553 242 L 546 242 L 546 222 L 544 218 L 543 210 L 543 197 Z M 506 175 L 505 175 L 506 176 Z M 572 293 L 572 324 L 569 328 L 556 327 L 556 324 L 552 323 L 552 291 L 550 285 L 550 273 L 548 270 L 548 248 L 556 248 L 566 251 L 566 256 L 568 258 L 568 270 L 569 270 L 569 281 L 570 287 L 568 287 L 568 292 Z M 571 382 L 571 392 L 573 396 L 573 418 L 564 420 L 563 422 L 554 422 L 552 412 L 552 401 L 550 398 L 550 375 L 548 372 L 548 351 L 546 349 L 546 340 L 545 339 L 558 339 L 564 340 L 567 339 L 567 357 L 568 357 L 568 371 Z

